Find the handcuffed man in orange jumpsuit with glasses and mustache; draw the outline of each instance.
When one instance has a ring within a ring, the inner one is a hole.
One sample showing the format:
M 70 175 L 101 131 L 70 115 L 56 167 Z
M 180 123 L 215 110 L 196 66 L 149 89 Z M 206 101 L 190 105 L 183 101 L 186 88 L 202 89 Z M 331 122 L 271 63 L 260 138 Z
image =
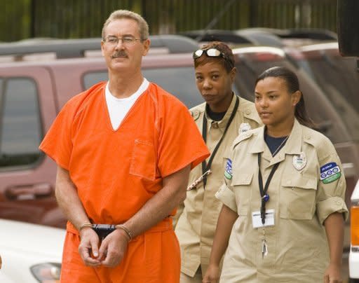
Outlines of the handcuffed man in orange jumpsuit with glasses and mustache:
M 69 219 L 61 282 L 179 282 L 169 216 L 209 152 L 186 106 L 142 76 L 148 37 L 140 15 L 112 13 L 101 43 L 109 81 L 70 99 L 41 143 Z M 92 223 L 116 229 L 100 241 Z

